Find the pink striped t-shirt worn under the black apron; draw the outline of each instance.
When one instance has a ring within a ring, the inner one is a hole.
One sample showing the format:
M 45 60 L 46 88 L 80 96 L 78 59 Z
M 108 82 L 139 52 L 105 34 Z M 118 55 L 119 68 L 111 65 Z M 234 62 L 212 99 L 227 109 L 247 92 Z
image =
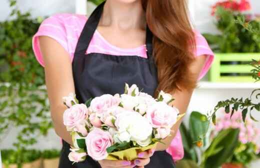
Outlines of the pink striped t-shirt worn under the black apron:
M 87 18 L 85 15 L 73 13 L 57 13 L 44 19 L 40 24 L 38 31 L 32 37 L 32 48 L 37 61 L 42 66 L 44 66 L 38 41 L 38 37 L 41 35 L 47 35 L 60 43 L 62 47 L 69 53 L 70 60 L 72 61 L 77 40 L 86 20 Z M 198 78 L 199 80 L 208 71 L 213 61 L 214 54 L 209 48 L 205 38 L 198 31 L 195 31 L 195 39 L 195 55 L 207 55 L 206 62 Z M 145 45 L 141 45 L 136 48 L 120 48 L 110 44 L 97 30 L 95 30 L 86 50 L 86 53 L 91 52 L 106 53 L 118 56 L 137 55 L 147 58 Z M 174 160 L 179 160 L 183 157 L 183 146 L 179 131 L 172 140 L 170 147 L 167 149 L 167 152 L 172 155 Z

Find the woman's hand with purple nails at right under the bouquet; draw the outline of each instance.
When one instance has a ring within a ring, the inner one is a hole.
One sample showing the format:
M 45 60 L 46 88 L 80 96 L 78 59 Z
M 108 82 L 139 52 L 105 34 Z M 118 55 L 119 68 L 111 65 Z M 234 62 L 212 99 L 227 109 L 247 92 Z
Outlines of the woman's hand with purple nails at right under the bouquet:
M 138 158 L 133 160 L 132 167 L 144 168 L 150 162 L 150 157 L 153 155 L 155 149 L 149 149 L 138 153 Z

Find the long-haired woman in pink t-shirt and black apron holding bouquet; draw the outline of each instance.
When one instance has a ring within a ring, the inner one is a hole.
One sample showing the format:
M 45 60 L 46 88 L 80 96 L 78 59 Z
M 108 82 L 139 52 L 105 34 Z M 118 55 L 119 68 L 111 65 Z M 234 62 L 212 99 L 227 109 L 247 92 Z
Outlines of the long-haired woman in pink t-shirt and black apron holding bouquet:
M 48 17 L 32 40 L 45 70 L 54 129 L 63 139 L 59 167 L 174 167 L 171 145 L 182 148 L 179 134 L 173 139 L 180 121 L 165 144 L 139 153 L 136 160 L 97 162 L 87 156 L 71 165 L 72 140 L 62 122 L 66 107 L 61 98 L 74 92 L 84 102 L 122 93 L 127 82 L 149 94 L 160 89 L 172 93 L 173 105 L 184 113 L 197 79 L 213 59 L 205 39 L 191 28 L 184 0 L 106 0 L 89 18 L 70 13 Z

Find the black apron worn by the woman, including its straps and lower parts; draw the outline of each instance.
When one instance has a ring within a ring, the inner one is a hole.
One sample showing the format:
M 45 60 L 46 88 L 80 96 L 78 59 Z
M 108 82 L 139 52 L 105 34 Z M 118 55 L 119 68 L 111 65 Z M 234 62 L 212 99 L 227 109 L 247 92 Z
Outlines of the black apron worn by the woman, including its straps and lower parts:
M 98 25 L 102 14 L 101 3 L 87 19 L 77 41 L 72 71 L 76 98 L 79 103 L 105 93 L 123 93 L 125 82 L 129 85 L 137 84 L 143 92 L 153 95 L 157 87 L 157 70 L 152 59 L 152 33 L 146 29 L 147 58 L 137 55 L 110 55 L 103 53 L 89 53 L 85 51 Z M 59 168 L 99 168 L 97 161 L 86 156 L 85 161 L 74 163 L 68 159 L 69 144 L 62 140 Z M 145 168 L 171 168 L 174 163 L 170 154 L 155 151 L 150 157 L 150 163 Z

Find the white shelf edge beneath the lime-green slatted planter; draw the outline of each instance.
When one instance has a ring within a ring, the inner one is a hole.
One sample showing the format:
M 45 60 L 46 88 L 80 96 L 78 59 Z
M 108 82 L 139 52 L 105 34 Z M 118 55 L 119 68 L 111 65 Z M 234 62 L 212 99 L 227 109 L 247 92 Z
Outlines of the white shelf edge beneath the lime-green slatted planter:
M 260 82 L 198 82 L 197 89 L 255 89 L 260 88 Z

